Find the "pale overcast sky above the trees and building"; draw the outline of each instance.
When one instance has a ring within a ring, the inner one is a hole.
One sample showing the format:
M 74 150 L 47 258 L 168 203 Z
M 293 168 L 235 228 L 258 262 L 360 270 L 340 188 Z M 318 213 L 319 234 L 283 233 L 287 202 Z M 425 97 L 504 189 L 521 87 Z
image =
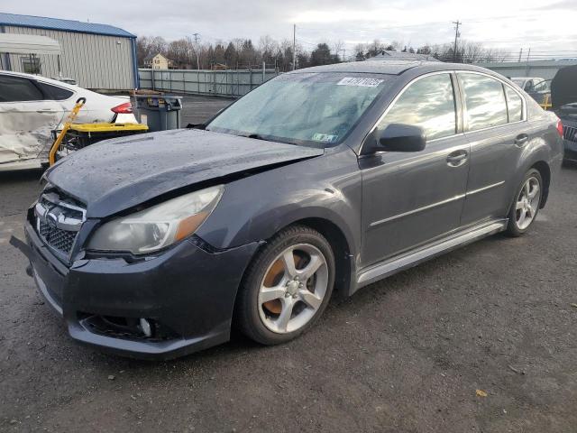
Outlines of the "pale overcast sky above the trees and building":
M 202 41 L 229 41 L 269 34 L 297 39 L 311 49 L 319 41 L 403 41 L 412 46 L 453 41 L 453 21 L 462 38 L 485 46 L 539 55 L 554 51 L 577 57 L 577 0 L 162 0 L 93 2 L 21 0 L 2 12 L 108 23 L 137 35 L 167 40 L 199 32 Z M 572 52 L 570 52 L 572 51 Z

